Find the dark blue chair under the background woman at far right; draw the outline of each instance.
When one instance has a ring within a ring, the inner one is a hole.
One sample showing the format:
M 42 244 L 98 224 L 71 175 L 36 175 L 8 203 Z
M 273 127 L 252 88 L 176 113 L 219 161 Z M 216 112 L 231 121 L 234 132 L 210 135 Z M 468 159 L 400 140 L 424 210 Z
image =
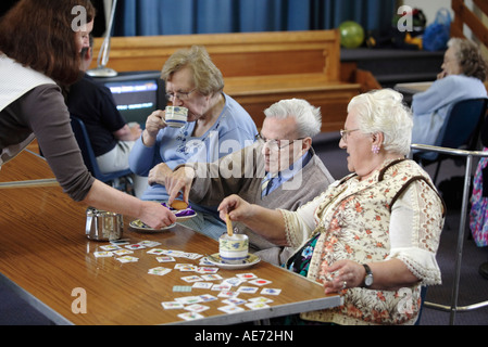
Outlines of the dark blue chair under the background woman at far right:
M 455 103 L 440 129 L 439 137 L 442 139 L 438 146 L 447 149 L 459 149 L 475 151 L 478 144 L 479 132 L 485 119 L 488 99 L 468 99 Z M 435 153 L 427 156 L 425 152 L 415 153 L 413 159 L 423 166 L 437 163 L 434 175 L 434 183 L 437 182 L 440 164 L 452 157 L 443 153 Z

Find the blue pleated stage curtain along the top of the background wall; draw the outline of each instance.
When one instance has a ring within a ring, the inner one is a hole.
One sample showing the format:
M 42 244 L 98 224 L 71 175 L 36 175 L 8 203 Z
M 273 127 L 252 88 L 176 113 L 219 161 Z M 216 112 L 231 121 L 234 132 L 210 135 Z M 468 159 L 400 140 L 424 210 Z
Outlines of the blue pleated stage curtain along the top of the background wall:
M 120 0 L 114 36 L 391 27 L 396 0 Z

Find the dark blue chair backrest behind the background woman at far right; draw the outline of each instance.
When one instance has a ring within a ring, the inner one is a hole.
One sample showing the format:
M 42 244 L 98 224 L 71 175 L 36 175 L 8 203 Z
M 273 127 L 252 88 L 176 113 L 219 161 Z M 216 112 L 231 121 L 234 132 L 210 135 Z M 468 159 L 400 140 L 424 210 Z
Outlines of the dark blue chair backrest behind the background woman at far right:
M 440 146 L 474 151 L 485 119 L 488 99 L 468 99 L 455 103 L 441 129 Z

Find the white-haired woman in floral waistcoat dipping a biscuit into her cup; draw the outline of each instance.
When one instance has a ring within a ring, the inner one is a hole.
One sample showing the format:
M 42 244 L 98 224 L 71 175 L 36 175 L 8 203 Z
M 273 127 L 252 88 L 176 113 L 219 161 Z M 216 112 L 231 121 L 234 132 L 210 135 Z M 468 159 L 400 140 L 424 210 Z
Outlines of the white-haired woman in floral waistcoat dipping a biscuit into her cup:
M 412 118 L 402 97 L 386 89 L 348 106 L 339 146 L 353 172 L 297 211 L 265 209 L 237 195 L 220 206 L 276 244 L 298 247 L 287 267 L 338 292 L 343 305 L 292 321 L 413 324 L 421 286 L 440 284 L 436 252 L 442 200 L 410 151 Z

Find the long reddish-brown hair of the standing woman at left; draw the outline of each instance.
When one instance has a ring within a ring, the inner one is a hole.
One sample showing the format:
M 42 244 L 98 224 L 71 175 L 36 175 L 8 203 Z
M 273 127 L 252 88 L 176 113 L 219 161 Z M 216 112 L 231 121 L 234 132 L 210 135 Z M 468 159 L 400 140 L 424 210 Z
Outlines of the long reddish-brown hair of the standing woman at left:
M 79 76 L 75 7 L 85 8 L 87 23 L 95 18 L 90 0 L 18 1 L 0 20 L 0 52 L 61 85 L 73 83 Z

